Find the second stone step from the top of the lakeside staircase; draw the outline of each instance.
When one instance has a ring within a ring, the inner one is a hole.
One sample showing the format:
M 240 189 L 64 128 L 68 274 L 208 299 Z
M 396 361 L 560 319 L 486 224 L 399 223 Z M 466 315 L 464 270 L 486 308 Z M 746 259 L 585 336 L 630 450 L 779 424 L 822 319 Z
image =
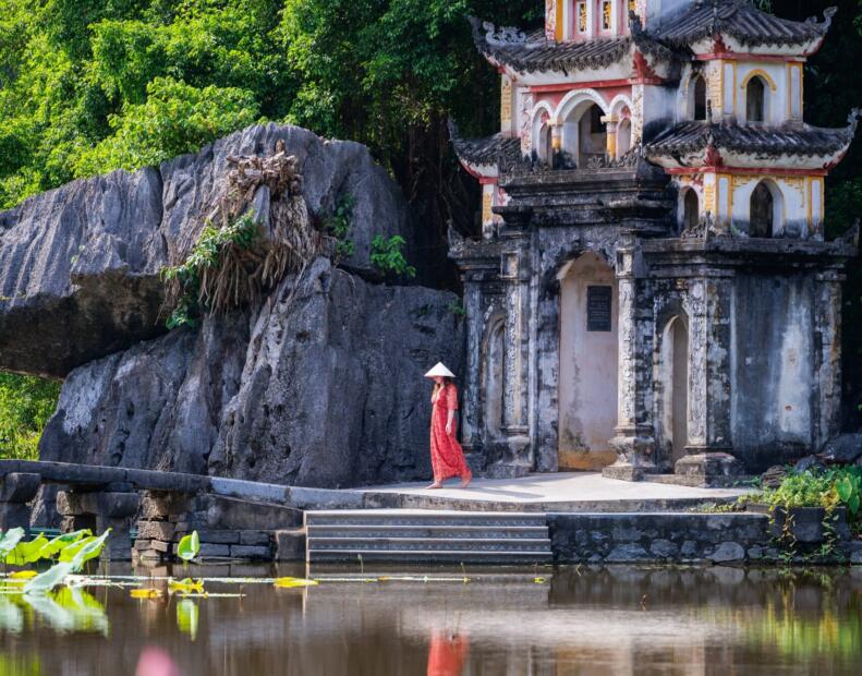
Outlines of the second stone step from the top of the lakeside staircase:
M 315 523 L 314 531 L 324 538 L 511 538 L 544 539 L 548 536 L 547 526 L 391 526 L 386 523 Z

